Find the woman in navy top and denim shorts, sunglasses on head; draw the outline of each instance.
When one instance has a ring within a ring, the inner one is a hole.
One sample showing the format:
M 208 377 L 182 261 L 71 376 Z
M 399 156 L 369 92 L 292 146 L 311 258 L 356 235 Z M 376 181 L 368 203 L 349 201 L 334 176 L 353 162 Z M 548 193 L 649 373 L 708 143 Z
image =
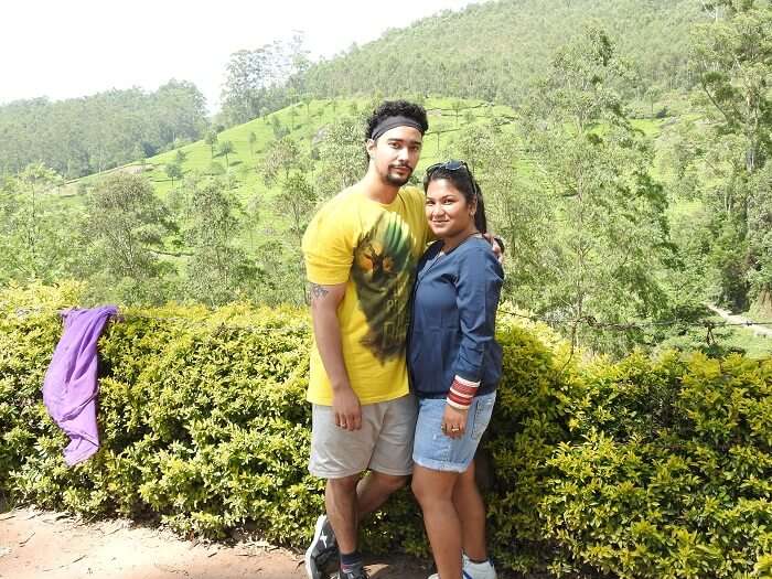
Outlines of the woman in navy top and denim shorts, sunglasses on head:
M 483 237 L 483 200 L 467 163 L 430 167 L 423 189 L 438 240 L 419 261 L 412 294 L 408 364 L 419 404 L 412 492 L 439 573 L 429 579 L 493 579 L 473 458 L 501 377 L 494 326 L 504 274 Z

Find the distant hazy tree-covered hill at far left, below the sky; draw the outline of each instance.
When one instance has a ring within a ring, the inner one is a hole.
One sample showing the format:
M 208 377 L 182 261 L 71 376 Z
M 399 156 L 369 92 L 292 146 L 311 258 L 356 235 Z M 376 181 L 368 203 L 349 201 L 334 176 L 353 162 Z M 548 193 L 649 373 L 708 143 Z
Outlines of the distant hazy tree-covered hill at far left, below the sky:
M 43 162 L 65 178 L 87 175 L 197 140 L 206 122 L 204 97 L 187 82 L 18 100 L 0 106 L 0 174 Z

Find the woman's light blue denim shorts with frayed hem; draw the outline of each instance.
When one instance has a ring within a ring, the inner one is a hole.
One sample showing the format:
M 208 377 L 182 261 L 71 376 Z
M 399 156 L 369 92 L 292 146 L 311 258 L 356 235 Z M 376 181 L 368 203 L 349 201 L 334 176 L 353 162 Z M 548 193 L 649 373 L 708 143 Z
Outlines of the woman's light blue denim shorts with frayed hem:
M 446 399 L 419 398 L 412 461 L 435 471 L 464 472 L 491 421 L 495 401 L 495 392 L 475 397 L 469 408 L 464 435 L 450 438 L 441 428 Z

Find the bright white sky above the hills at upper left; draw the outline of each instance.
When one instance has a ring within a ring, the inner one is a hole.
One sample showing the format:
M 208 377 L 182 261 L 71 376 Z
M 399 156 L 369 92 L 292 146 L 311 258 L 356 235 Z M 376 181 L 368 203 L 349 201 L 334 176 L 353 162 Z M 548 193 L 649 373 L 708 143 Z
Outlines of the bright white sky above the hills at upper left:
M 305 32 L 312 58 L 470 0 L 12 0 L 0 4 L 0 104 L 53 100 L 170 78 L 218 106 L 228 56 Z M 395 57 L 409 55 L 395 54 Z

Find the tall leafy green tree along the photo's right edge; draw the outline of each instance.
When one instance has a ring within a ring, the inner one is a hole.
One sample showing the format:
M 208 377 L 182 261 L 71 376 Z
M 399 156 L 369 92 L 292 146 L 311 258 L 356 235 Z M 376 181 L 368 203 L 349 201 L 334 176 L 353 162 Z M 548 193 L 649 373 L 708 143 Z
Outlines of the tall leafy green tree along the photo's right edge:
M 695 28 L 691 60 L 712 120 L 707 158 L 718 161 L 711 168 L 723 181 L 706 199 L 715 210 L 714 228 L 725 232 L 711 249 L 715 266 L 723 271 L 717 298 L 744 310 L 751 299 L 772 302 L 766 258 L 772 223 L 762 208 L 769 181 L 760 178 L 772 153 L 772 6 L 717 0 L 705 8 L 715 18 Z M 731 250 L 721 246 L 729 239 Z M 738 254 L 737 248 L 744 249 Z

